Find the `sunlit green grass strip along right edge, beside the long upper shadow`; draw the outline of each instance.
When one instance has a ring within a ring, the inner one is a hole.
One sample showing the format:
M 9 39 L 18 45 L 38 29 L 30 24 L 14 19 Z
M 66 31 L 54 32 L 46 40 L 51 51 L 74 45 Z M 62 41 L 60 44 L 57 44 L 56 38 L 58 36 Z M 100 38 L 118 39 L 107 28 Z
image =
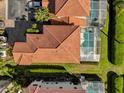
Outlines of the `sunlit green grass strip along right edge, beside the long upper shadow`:
M 124 7 L 120 6 L 119 3 L 113 7 L 115 12 L 113 21 L 113 28 L 115 30 L 113 31 L 113 63 L 121 65 L 124 64 Z

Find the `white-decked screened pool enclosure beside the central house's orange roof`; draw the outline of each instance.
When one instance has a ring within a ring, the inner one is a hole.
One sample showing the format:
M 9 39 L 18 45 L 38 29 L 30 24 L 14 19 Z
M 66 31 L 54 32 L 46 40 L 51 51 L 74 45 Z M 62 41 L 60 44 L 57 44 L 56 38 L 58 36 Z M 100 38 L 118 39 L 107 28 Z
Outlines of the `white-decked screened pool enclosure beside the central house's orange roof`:
M 81 61 L 88 61 L 88 62 L 99 62 L 100 60 L 100 36 L 97 34 L 99 33 L 97 30 L 93 27 L 92 31 L 93 34 L 84 34 L 87 30 L 82 29 L 81 31 L 81 45 L 80 45 L 80 58 Z M 88 36 L 87 36 L 88 34 Z M 85 38 L 86 35 L 87 37 Z M 91 35 L 91 36 L 90 36 Z M 93 39 L 92 39 L 93 38 Z M 99 41 L 99 42 L 98 42 Z M 93 44 L 92 44 L 92 43 Z

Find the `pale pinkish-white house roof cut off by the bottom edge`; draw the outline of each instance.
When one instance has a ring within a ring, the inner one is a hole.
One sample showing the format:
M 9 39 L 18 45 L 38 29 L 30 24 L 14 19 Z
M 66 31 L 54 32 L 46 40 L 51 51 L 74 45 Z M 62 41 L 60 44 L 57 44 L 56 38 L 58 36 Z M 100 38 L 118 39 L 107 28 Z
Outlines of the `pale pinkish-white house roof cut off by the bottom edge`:
M 35 83 L 36 82 L 36 83 Z M 57 82 L 57 84 L 55 84 Z M 24 93 L 86 93 L 81 84 L 74 85 L 70 81 L 41 82 L 34 81 L 23 88 Z

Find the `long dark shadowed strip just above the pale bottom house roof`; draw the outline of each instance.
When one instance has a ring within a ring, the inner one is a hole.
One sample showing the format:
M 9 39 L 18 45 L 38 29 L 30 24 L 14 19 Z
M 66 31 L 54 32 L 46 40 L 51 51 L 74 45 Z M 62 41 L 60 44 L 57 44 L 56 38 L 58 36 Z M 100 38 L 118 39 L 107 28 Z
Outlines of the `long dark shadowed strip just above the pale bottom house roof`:
M 33 82 L 64 82 L 73 81 L 79 83 L 79 79 L 75 76 L 65 72 L 65 73 L 28 73 L 28 75 L 16 78 L 16 82 L 21 85 L 22 88 L 32 86 Z

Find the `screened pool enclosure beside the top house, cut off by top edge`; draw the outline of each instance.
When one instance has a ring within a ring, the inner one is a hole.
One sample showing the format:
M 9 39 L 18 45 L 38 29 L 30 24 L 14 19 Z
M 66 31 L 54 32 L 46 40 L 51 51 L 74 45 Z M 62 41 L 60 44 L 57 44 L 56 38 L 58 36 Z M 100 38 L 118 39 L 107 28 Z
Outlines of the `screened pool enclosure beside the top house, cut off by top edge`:
M 107 0 L 91 0 L 89 23 L 104 24 L 107 15 Z

